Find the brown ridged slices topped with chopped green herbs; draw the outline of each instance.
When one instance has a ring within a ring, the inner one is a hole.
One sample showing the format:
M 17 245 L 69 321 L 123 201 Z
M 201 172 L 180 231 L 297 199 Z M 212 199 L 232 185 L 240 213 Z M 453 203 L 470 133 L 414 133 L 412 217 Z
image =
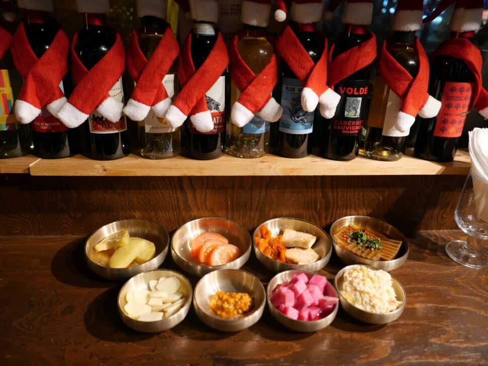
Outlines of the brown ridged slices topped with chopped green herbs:
M 400 250 L 401 241 L 388 238 L 370 228 L 348 225 L 334 234 L 335 242 L 362 258 L 371 260 L 391 260 Z

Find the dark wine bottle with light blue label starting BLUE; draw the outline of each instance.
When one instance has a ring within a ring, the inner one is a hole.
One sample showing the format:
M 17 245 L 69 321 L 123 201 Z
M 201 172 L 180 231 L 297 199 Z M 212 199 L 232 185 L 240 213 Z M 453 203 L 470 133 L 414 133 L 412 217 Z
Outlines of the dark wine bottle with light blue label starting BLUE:
M 323 39 L 315 30 L 315 24 L 294 24 L 293 31 L 314 63 L 323 52 Z M 305 112 L 301 105 L 303 84 L 286 63 L 281 65 L 283 84 L 281 105 L 283 116 L 278 128 L 277 152 L 289 158 L 302 158 L 312 152 L 312 131 L 314 121 L 320 120 L 318 109 Z

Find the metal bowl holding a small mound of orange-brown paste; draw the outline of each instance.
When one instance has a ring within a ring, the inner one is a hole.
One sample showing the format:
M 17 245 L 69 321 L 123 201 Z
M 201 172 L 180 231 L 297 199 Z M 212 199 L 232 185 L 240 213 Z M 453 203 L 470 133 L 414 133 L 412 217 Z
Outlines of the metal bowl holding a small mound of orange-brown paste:
M 209 306 L 217 291 L 248 293 L 254 298 L 254 309 L 243 315 L 222 318 Z M 261 281 L 240 269 L 219 269 L 206 274 L 195 287 L 193 297 L 193 306 L 200 320 L 224 332 L 237 332 L 255 324 L 263 315 L 265 303 L 266 292 Z

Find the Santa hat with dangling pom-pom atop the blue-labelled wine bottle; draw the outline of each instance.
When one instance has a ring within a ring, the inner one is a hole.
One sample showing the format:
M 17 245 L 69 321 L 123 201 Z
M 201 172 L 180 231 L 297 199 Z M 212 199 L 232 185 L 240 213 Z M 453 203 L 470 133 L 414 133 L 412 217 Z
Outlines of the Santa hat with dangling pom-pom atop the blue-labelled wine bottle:
M 284 0 L 276 0 L 275 19 L 283 22 L 286 19 L 287 9 Z M 293 0 L 291 2 L 291 20 L 293 22 L 310 24 L 322 19 L 322 0 Z

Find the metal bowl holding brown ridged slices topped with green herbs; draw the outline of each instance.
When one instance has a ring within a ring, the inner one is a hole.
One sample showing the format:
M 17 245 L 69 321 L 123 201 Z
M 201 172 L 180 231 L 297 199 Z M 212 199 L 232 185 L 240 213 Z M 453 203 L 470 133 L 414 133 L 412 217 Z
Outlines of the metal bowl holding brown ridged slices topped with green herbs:
M 354 225 L 356 227 L 369 227 L 375 231 L 383 233 L 387 237 L 394 240 L 401 240 L 400 250 L 396 254 L 396 258 L 392 260 L 371 260 L 366 258 L 361 258 L 340 246 L 334 240 L 334 234 L 340 231 L 343 227 L 347 225 Z M 409 256 L 410 243 L 409 240 L 403 235 L 398 229 L 391 226 L 387 222 L 378 220 L 368 216 L 347 216 L 342 219 L 337 220 L 331 226 L 330 235 L 332 238 L 332 244 L 334 245 L 334 250 L 341 260 L 346 264 L 366 264 L 372 267 L 383 269 L 387 272 L 400 267 L 405 263 L 406 258 Z

